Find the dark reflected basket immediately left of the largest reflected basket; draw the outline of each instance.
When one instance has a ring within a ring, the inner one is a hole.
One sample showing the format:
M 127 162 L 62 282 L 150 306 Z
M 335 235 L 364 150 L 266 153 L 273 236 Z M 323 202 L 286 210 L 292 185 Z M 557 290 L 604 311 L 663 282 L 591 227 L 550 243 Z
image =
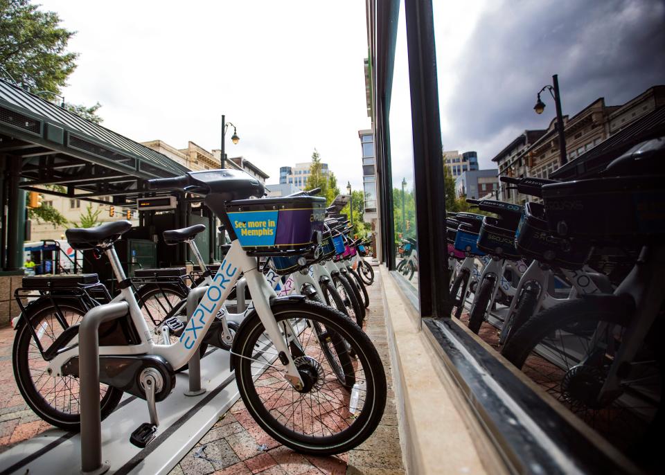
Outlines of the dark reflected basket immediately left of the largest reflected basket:
M 580 269 L 592 250 L 588 242 L 553 235 L 547 226 L 544 207 L 539 203 L 526 204 L 515 235 L 517 251 L 522 256 L 562 269 Z

